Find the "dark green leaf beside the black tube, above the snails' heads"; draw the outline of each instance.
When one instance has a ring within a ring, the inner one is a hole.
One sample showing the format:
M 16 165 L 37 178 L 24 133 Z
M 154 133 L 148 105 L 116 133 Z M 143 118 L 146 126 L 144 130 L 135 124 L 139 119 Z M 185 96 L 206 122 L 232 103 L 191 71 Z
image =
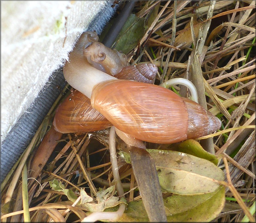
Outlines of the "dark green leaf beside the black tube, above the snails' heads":
M 114 48 L 128 54 L 137 46 L 144 33 L 144 18 L 138 18 L 135 14 L 131 14 L 117 36 Z

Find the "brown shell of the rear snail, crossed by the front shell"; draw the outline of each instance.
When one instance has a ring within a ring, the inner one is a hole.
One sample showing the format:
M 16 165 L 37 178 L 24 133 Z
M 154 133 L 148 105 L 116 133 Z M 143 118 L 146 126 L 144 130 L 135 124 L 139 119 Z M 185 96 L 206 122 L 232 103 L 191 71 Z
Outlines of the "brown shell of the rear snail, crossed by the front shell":
M 143 63 L 123 67 L 115 77 L 153 84 L 156 72 L 156 65 Z M 79 91 L 74 91 L 71 100 L 66 98 L 59 105 L 52 124 L 61 133 L 92 132 L 112 126 L 99 111 L 92 108 L 91 100 Z

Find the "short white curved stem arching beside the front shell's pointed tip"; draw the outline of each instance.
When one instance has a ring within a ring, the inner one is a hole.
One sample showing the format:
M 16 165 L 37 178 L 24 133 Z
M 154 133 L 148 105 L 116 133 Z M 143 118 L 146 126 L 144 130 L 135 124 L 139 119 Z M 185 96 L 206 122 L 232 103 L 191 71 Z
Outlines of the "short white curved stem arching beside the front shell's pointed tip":
M 165 81 L 160 86 L 168 88 L 168 87 L 171 87 L 172 85 L 185 85 L 191 93 L 191 100 L 196 101 L 196 103 L 198 103 L 198 95 L 197 95 L 196 87 L 191 81 L 185 78 L 172 78 L 170 80 Z

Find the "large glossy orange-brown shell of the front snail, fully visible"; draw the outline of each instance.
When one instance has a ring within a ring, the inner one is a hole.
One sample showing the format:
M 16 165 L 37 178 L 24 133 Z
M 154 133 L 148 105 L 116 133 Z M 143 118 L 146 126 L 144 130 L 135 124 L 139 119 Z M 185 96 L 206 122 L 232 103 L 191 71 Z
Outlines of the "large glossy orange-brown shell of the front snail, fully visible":
M 152 143 L 175 143 L 204 136 L 221 124 L 194 101 L 183 100 L 157 85 L 129 80 L 100 83 L 92 91 L 91 104 L 117 129 Z M 206 126 L 204 130 L 202 126 Z

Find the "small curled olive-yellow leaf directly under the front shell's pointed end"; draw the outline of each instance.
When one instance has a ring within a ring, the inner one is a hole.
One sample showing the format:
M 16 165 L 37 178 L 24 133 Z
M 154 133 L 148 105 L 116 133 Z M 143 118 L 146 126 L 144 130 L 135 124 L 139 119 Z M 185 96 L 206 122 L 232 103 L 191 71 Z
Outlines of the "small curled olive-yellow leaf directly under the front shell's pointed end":
M 218 158 L 215 155 L 206 152 L 204 148 L 200 145 L 200 143 L 194 139 L 188 139 L 181 143 L 172 144 L 171 149 L 179 152 L 185 152 L 205 160 L 209 160 L 216 166 L 218 164 Z

